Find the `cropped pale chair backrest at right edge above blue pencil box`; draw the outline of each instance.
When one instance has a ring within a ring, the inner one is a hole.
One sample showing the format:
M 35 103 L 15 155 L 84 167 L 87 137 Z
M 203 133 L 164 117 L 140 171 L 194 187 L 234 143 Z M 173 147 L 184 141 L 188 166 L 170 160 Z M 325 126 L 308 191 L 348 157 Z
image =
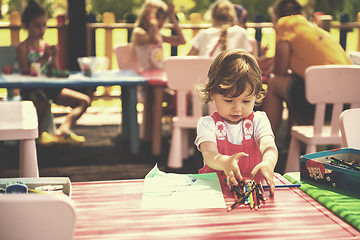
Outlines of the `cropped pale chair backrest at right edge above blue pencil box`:
M 339 118 L 344 147 L 360 149 L 360 108 L 347 109 Z

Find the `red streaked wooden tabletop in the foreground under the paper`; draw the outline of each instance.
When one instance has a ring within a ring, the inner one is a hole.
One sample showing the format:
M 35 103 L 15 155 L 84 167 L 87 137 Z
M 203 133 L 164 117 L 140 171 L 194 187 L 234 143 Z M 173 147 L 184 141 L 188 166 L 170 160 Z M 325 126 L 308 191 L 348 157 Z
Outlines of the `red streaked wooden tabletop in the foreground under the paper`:
M 287 182 L 276 175 L 277 184 Z M 72 184 L 74 239 L 359 239 L 360 233 L 297 188 L 259 210 L 140 209 L 144 180 Z M 266 193 L 268 195 L 268 193 Z M 234 199 L 224 191 L 226 206 Z

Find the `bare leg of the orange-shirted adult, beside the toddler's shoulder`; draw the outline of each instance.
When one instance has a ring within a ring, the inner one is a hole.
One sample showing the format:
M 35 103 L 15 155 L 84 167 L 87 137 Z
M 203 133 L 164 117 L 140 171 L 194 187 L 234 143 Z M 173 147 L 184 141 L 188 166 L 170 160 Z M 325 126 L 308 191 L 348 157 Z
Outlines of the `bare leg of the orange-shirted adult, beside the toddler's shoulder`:
M 288 102 L 287 86 L 291 76 L 274 76 L 269 80 L 267 94 L 263 103 L 272 130 L 276 135 L 281 124 L 283 101 Z

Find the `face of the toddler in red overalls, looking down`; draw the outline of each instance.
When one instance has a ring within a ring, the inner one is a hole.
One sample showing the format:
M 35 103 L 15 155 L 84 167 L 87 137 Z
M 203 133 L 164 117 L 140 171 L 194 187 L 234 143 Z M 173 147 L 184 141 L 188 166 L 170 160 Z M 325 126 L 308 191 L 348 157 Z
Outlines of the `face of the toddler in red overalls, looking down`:
M 211 94 L 214 99 L 217 112 L 230 124 L 238 124 L 242 119 L 251 114 L 255 105 L 255 95 L 248 87 L 240 96 L 226 98 L 221 94 Z

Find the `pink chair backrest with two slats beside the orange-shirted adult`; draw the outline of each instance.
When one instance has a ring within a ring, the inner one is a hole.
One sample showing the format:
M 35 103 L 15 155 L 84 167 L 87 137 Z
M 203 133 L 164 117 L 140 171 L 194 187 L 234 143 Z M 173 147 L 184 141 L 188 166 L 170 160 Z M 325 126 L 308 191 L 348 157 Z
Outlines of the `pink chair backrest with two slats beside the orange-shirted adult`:
M 339 117 L 343 105 L 350 104 L 351 108 L 360 107 L 359 76 L 360 66 L 357 65 L 320 65 L 306 69 L 306 99 L 316 104 L 314 136 L 321 135 L 326 104 L 333 104 L 331 135 L 339 135 Z

